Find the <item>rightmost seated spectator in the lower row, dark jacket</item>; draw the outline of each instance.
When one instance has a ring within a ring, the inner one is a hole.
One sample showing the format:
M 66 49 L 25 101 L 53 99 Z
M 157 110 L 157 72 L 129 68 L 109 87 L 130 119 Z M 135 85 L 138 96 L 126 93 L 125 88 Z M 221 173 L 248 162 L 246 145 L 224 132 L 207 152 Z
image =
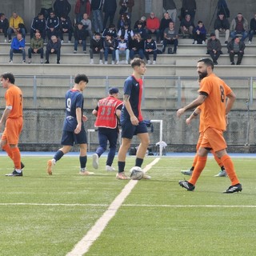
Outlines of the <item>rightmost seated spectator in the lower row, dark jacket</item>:
M 242 62 L 242 57 L 244 54 L 244 50 L 246 48 L 245 43 L 240 40 L 238 36 L 234 37 L 228 44 L 227 44 L 227 50 L 230 54 L 230 62 L 231 65 L 234 65 L 234 55 L 238 55 L 238 62 L 237 65 L 240 65 Z

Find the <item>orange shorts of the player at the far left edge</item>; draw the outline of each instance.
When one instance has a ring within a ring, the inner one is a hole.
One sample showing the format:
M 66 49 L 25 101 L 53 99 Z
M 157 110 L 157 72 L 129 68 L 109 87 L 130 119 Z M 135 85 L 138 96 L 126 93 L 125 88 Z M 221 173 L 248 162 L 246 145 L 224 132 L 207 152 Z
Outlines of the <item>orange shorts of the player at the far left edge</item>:
M 23 118 L 7 118 L 6 128 L 2 133 L 2 141 L 8 144 L 18 144 L 19 135 L 22 132 Z

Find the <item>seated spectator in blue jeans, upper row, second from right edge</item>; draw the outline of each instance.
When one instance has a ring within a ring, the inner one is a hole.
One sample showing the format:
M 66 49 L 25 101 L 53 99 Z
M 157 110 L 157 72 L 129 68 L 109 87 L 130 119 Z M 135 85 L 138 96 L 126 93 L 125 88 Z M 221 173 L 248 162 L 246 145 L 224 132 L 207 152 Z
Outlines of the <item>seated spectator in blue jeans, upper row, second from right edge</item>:
M 230 25 L 230 37 L 235 38 L 236 35 L 242 34 L 242 41 L 245 41 L 245 39 L 248 36 L 248 22 L 246 18 L 242 16 L 241 13 L 238 13 L 237 17 L 234 18 Z

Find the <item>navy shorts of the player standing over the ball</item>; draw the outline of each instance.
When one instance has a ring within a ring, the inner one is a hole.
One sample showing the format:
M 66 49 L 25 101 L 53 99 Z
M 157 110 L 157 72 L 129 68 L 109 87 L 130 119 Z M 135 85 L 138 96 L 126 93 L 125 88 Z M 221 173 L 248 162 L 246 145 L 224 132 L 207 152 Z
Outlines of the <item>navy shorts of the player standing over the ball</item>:
M 138 126 L 134 126 L 130 120 L 121 123 L 122 126 L 122 138 L 133 138 L 137 134 L 148 133 L 146 123 L 144 121 L 139 122 Z

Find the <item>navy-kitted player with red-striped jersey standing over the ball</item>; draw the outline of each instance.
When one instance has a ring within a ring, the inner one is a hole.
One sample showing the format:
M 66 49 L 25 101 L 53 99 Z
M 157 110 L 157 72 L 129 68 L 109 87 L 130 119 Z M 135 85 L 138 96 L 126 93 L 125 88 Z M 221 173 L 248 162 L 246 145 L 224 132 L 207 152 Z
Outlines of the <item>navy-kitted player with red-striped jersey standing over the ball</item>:
M 140 144 L 138 146 L 135 166 L 141 167 L 147 147 L 150 144 L 150 137 L 146 123 L 142 118 L 142 75 L 146 72 L 146 63 L 141 58 L 134 58 L 131 62 L 134 69 L 132 75 L 126 78 L 123 94 L 123 108 L 121 113 L 122 144 L 118 151 L 118 179 L 128 179 L 125 174 L 126 153 L 130 148 L 130 143 L 134 135 L 137 135 Z M 144 174 L 143 178 L 150 176 Z

